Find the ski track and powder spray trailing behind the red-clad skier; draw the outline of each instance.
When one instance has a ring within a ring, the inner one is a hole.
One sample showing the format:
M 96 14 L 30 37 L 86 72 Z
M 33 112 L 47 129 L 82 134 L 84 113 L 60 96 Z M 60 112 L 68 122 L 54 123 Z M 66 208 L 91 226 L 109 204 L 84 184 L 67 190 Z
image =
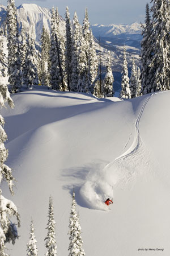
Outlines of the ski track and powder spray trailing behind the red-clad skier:
M 80 188 L 80 195 L 86 201 L 89 208 L 108 210 L 107 205 L 104 204 L 104 200 L 108 197 L 113 198 L 114 189 L 124 189 L 128 183 L 133 185 L 133 181 L 137 175 L 144 171 L 151 171 L 151 159 L 140 137 L 139 121 L 152 96 L 154 96 L 154 93 L 146 98 L 138 114 L 135 121 L 133 143 L 128 150 L 114 159 L 113 162 L 107 164 L 103 170 L 92 171 L 87 175 L 86 182 Z M 131 134 L 123 151 L 128 146 L 130 137 Z

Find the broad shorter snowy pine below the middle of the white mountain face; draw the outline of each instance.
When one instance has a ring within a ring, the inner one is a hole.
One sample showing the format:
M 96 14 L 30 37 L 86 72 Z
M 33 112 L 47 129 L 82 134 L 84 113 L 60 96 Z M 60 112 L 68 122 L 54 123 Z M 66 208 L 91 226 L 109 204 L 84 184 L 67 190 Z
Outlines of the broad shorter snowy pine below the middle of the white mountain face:
M 33 33 L 27 36 L 27 53 L 25 56 L 25 69 L 24 69 L 28 89 L 32 89 L 33 85 L 39 84 L 39 77 L 37 72 L 37 53 L 35 48 L 35 40 Z

